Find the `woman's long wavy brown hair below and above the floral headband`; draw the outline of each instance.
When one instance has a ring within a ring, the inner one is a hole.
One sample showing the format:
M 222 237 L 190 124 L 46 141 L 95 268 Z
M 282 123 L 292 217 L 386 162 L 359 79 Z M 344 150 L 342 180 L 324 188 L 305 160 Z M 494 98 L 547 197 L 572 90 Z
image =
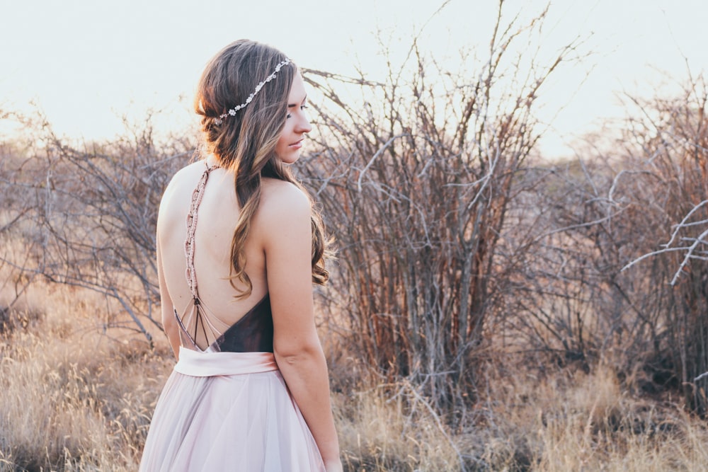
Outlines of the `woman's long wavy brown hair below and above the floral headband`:
M 295 64 L 287 64 L 278 76 L 265 84 L 246 108 L 219 120 L 219 115 L 246 103 L 256 86 L 276 65 L 286 59 L 273 47 L 249 40 L 239 40 L 224 47 L 207 64 L 199 81 L 194 108 L 201 116 L 205 151 L 216 156 L 219 166 L 234 173 L 236 197 L 241 206 L 231 243 L 231 284 L 246 285 L 237 298 L 248 297 L 253 284 L 246 274 L 244 247 L 251 229 L 251 219 L 261 201 L 261 178 L 286 180 L 309 193 L 275 155 L 280 132 L 285 126 L 287 98 L 295 74 Z M 221 121 L 219 123 L 219 121 Z M 324 284 L 329 279 L 325 268 L 328 238 L 319 214 L 312 211 L 312 281 Z

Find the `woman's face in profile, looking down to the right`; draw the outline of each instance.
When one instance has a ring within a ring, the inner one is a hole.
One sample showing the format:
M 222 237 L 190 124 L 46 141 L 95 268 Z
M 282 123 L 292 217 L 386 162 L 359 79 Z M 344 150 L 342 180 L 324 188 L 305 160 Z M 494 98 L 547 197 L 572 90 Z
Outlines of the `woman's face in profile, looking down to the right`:
M 295 74 L 287 96 L 287 117 L 285 127 L 280 132 L 275 154 L 286 164 L 292 164 L 300 156 L 305 133 L 312 131 L 305 109 L 307 108 L 307 93 L 300 74 Z

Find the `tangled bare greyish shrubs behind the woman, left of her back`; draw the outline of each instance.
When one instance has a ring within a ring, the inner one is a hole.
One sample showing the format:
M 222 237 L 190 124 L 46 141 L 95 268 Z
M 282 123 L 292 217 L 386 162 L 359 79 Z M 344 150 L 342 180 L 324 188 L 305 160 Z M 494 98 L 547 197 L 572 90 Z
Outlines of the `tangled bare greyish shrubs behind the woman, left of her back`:
M 130 315 L 132 323 L 122 327 L 150 340 L 144 321 L 159 325 L 157 209 L 193 146 L 180 139 L 158 144 L 151 115 L 137 126 L 126 122 L 123 137 L 81 147 L 36 118 L 25 122 L 32 144 L 4 146 L 0 155 L 0 234 L 22 247 L 0 253 L 0 263 L 14 267 L 15 277 L 40 276 L 110 297 Z

